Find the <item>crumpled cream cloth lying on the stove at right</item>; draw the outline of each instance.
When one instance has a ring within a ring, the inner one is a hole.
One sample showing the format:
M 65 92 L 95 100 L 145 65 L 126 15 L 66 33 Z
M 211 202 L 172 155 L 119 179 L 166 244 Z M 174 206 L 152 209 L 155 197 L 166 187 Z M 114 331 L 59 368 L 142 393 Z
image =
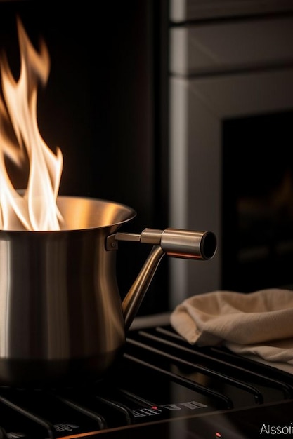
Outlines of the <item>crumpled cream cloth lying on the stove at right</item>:
M 293 374 L 293 291 L 214 291 L 176 306 L 170 323 L 190 344 L 226 346 Z

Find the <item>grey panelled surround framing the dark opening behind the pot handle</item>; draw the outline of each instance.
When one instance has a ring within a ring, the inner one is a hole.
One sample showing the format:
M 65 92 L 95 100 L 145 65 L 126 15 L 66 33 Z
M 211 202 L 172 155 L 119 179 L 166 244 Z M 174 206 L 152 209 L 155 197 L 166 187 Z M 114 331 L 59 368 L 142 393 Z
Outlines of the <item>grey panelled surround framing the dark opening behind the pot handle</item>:
M 218 237 L 209 266 L 170 261 L 172 306 L 223 288 L 223 121 L 292 110 L 292 20 L 272 15 L 171 25 L 169 221 L 208 227 Z M 237 236 L 231 231 L 227 239 Z

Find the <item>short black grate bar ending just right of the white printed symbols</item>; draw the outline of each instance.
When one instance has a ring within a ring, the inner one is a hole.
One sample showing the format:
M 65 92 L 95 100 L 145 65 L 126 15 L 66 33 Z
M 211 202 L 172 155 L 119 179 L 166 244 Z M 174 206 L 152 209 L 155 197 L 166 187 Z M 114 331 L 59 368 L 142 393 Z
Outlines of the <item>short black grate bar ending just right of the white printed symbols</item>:
M 174 382 L 181 384 L 182 386 L 188 387 L 188 389 L 193 389 L 194 391 L 197 391 L 198 393 L 202 393 L 203 395 L 210 396 L 211 398 L 215 398 L 216 400 L 219 400 L 219 402 L 223 403 L 223 405 L 226 409 L 233 408 L 233 402 L 228 396 L 223 395 L 222 393 L 219 393 L 215 391 L 214 389 L 207 388 L 206 386 L 202 386 L 201 384 L 195 383 L 191 379 L 182 377 L 178 374 L 175 374 L 174 372 L 169 372 L 168 370 L 162 369 L 162 367 L 156 366 L 154 364 L 148 363 L 144 360 L 141 360 L 140 358 L 136 358 L 134 356 L 129 355 L 128 353 L 124 353 L 124 358 L 127 358 L 128 360 L 133 361 L 134 363 L 137 363 L 139 365 L 143 365 L 144 367 L 147 367 L 150 370 L 154 370 L 155 372 L 158 372 L 159 374 L 164 375 L 165 377 L 171 378 Z

